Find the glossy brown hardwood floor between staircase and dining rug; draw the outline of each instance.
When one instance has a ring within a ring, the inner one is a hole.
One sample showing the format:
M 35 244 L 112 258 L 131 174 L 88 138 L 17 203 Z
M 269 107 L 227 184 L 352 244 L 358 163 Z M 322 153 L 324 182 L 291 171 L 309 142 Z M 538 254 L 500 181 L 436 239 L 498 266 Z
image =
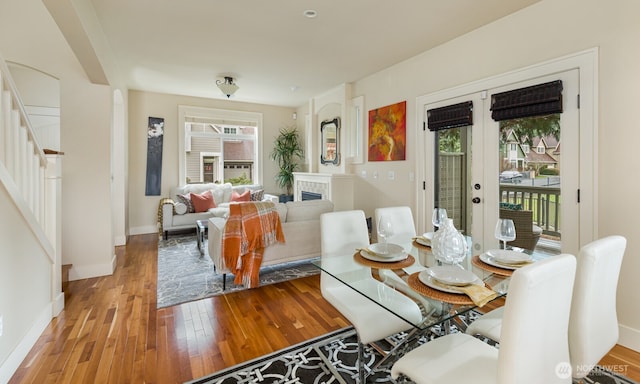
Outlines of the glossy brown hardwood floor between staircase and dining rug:
M 112 276 L 69 282 L 10 383 L 182 383 L 349 325 L 318 276 L 156 309 L 157 235 L 116 254 Z M 640 380 L 632 350 L 602 364 Z

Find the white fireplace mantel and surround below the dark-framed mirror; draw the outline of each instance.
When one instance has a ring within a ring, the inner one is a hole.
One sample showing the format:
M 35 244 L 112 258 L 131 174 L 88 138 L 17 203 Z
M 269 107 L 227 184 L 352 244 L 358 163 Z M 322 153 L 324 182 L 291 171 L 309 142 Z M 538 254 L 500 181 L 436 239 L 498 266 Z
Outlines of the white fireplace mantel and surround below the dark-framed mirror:
M 331 200 L 336 211 L 353 209 L 353 176 L 336 173 L 293 173 L 293 199 L 302 200 L 302 192 L 322 195 Z

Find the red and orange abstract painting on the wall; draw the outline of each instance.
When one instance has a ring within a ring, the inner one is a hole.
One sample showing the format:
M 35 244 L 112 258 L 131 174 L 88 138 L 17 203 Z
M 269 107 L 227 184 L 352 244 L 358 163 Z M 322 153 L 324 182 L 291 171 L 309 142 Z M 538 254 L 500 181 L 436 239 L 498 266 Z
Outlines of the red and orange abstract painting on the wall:
M 369 111 L 369 161 L 406 159 L 407 102 Z

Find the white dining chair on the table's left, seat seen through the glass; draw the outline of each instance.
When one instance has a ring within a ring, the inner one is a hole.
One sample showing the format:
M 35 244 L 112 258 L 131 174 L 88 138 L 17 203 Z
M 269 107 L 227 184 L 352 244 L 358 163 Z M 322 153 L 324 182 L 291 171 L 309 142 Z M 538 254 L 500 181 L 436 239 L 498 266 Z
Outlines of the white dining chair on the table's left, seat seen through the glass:
M 324 213 L 320 216 L 322 264 L 339 266 L 344 282 L 326 272 L 320 274 L 322 296 L 353 324 L 358 336 L 358 382 L 365 382 L 364 345 L 413 328 L 422 314 L 413 300 L 373 278 L 370 268 L 353 259 L 357 248 L 369 245 L 364 212 Z M 348 282 L 351 287 L 347 286 Z M 356 292 L 355 289 L 362 292 Z M 375 297 L 388 309 L 368 297 Z M 400 315 L 400 317 L 390 312 Z M 412 324 L 410 324 L 412 323 Z

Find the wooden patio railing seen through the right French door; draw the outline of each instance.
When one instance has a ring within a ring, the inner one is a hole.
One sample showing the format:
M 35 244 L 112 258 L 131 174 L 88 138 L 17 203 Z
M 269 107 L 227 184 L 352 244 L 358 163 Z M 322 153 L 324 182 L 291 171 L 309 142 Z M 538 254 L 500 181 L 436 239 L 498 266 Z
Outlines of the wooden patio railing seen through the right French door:
M 522 204 L 546 235 L 560 237 L 560 187 L 500 184 L 500 202 Z

